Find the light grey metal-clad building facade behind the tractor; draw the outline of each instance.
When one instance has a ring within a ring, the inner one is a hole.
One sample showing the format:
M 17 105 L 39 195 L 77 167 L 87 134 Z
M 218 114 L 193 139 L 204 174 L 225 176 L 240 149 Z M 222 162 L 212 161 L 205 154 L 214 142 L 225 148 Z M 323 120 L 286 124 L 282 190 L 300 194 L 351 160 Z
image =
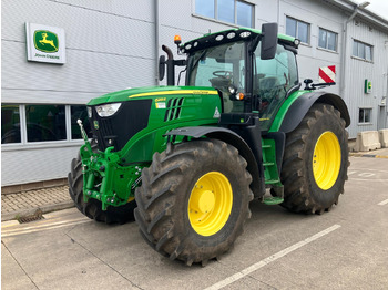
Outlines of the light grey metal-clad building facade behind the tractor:
M 84 105 L 159 84 L 161 45 L 175 51 L 175 34 L 185 42 L 278 22 L 302 40 L 300 82 L 317 83 L 318 69 L 335 65 L 337 85 L 324 90 L 347 103 L 350 138 L 388 125 L 388 21 L 349 0 L 2 0 L 1 13 L 2 186 L 64 178 L 82 144 L 75 121 L 85 118 Z M 28 60 L 31 24 L 65 40 L 37 39 L 35 49 L 49 50 L 38 62 Z M 44 62 L 55 49 L 64 63 Z

